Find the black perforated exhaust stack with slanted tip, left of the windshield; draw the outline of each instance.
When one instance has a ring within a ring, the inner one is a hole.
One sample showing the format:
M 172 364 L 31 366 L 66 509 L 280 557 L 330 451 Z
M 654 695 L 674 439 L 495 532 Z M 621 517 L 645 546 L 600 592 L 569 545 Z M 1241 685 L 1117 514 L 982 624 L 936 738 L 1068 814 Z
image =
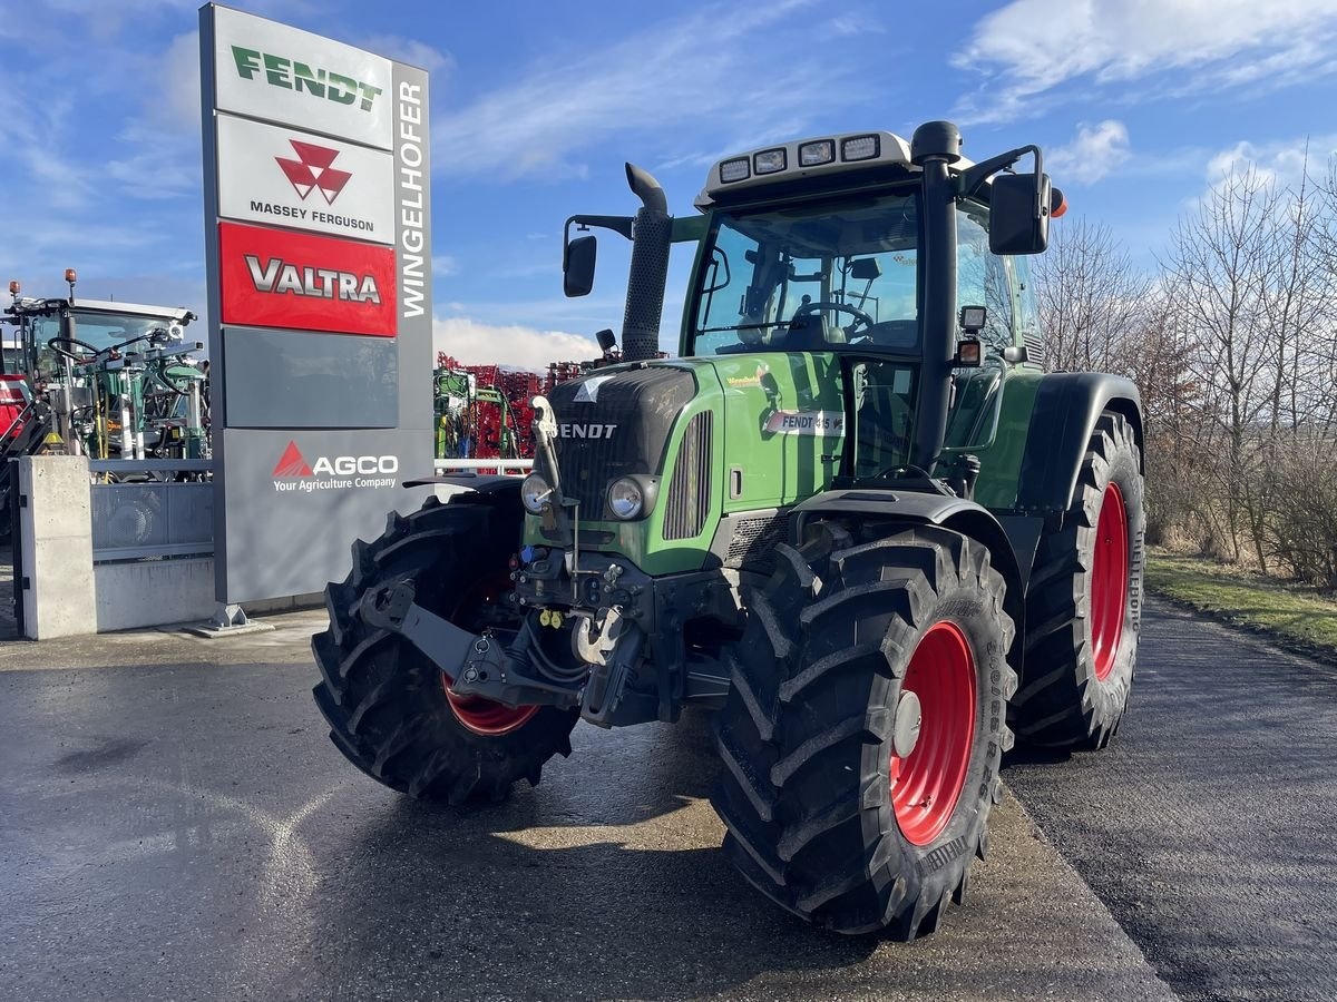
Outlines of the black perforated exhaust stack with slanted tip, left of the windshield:
M 659 357 L 659 315 L 668 282 L 668 244 L 673 216 L 659 182 L 627 164 L 627 183 L 640 199 L 631 230 L 631 273 L 627 275 L 627 311 L 622 319 L 622 361 Z

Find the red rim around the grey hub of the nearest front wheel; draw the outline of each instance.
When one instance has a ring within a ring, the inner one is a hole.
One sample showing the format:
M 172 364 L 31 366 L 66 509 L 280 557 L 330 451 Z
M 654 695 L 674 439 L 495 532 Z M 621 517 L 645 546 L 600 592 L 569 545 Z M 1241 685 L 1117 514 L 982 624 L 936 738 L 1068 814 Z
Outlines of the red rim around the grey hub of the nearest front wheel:
M 960 627 L 929 628 L 901 688 L 919 696 L 921 717 L 915 749 L 904 759 L 892 751 L 892 806 L 905 840 L 927 846 L 961 799 L 975 741 L 975 657 Z

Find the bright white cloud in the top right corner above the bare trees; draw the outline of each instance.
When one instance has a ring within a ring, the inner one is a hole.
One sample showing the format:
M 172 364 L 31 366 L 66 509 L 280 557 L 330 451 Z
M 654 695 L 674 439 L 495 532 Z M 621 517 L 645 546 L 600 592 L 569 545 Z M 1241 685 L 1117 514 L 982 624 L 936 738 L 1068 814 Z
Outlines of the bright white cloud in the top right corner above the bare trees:
M 976 23 L 953 59 L 988 79 L 959 112 L 1008 120 L 1070 80 L 1126 83 L 1171 69 L 1189 72 L 1167 83 L 1181 92 L 1288 86 L 1337 71 L 1334 39 L 1333 0 L 1012 0 Z

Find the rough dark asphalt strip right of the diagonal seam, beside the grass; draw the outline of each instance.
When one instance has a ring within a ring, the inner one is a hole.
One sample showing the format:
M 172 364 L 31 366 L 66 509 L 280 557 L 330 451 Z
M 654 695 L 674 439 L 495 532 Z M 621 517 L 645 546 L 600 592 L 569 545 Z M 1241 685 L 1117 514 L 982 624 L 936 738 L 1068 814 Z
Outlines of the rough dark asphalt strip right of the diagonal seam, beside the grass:
M 1004 775 L 1187 999 L 1337 999 L 1337 664 L 1152 603 L 1100 755 Z

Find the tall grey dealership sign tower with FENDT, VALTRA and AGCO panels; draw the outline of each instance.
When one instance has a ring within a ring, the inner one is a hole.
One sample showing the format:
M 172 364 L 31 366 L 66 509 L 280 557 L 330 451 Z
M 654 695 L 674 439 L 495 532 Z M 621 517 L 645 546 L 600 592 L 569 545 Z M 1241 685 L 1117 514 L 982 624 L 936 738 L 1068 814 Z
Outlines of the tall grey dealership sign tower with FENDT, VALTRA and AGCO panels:
M 324 588 L 432 469 L 428 80 L 199 12 L 214 560 L 225 604 Z

